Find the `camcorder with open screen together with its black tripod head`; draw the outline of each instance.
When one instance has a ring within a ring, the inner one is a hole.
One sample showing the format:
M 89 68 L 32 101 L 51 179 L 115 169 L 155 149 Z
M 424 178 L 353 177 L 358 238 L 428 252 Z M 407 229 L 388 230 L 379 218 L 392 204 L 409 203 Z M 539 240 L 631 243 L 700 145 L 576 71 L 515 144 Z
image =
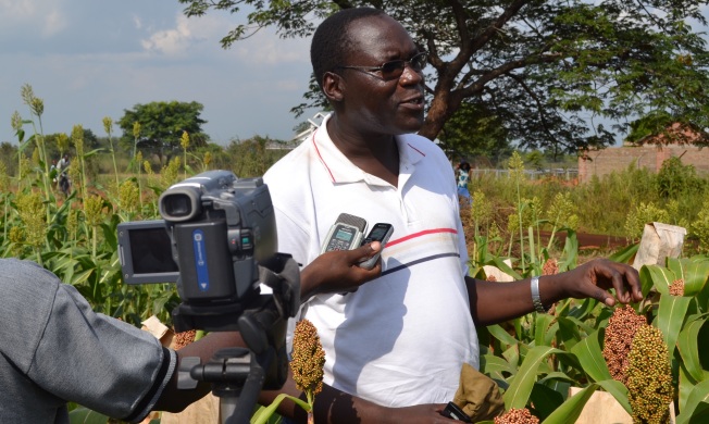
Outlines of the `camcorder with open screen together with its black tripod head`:
M 183 370 L 179 386 L 212 382 L 222 400 L 248 391 L 239 410 L 250 413 L 261 387 L 278 389 L 286 379 L 286 322 L 300 305 L 298 265 L 276 252 L 268 186 L 261 178 L 209 171 L 167 188 L 159 210 L 163 220 L 119 224 L 123 279 L 177 283 L 183 302 L 172 311 L 176 332 L 240 332 L 256 357 L 239 348 L 217 352 L 215 363 Z M 261 283 L 273 294 L 262 295 Z

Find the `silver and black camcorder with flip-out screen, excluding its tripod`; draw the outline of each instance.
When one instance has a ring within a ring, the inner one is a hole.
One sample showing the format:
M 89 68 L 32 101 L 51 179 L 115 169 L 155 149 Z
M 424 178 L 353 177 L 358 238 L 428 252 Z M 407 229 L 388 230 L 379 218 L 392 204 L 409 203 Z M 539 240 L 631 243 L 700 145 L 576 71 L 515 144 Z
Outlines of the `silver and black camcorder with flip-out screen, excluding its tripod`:
M 259 263 L 276 255 L 268 186 L 209 171 L 167 188 L 159 210 L 163 220 L 119 224 L 124 280 L 177 283 L 177 331 L 238 329 L 236 317 L 257 302 Z

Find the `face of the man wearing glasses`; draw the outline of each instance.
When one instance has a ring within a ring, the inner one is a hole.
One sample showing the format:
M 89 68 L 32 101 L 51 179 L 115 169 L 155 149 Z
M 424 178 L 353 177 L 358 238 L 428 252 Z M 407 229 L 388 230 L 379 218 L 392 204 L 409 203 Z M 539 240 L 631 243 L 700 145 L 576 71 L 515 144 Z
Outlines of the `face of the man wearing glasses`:
M 394 60 L 410 60 L 419 52 L 406 29 L 389 16 L 352 23 L 353 43 L 344 66 L 376 67 Z M 365 133 L 399 135 L 419 130 L 423 123 L 423 75 L 405 67 L 398 78 L 383 79 L 381 72 L 341 68 L 344 97 L 339 119 Z

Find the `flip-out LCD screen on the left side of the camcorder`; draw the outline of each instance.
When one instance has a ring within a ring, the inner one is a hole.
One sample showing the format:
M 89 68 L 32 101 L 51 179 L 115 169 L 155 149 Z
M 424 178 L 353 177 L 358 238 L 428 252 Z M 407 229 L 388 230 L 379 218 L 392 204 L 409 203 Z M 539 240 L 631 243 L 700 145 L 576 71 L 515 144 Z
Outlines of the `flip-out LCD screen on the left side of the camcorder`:
M 128 284 L 174 283 L 179 275 L 164 221 L 120 224 L 119 249 Z

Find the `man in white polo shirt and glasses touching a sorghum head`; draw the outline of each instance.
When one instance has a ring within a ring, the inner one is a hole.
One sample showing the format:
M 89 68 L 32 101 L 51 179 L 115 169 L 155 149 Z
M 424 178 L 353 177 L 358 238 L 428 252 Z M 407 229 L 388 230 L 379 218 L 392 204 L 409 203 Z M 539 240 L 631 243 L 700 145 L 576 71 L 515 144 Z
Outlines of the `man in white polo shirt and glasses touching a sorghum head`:
M 467 276 L 450 163 L 412 134 L 423 123 L 426 54 L 398 22 L 361 8 L 320 25 L 311 61 L 333 113 L 264 176 L 278 250 L 311 263 L 343 212 L 370 227 L 394 225 L 378 278 L 353 292 L 314 292 L 303 307 L 326 354 L 316 422 L 445 422 L 439 412 L 453 398 L 463 363 L 478 364 L 476 324 L 567 297 L 613 304 L 605 290 L 611 287 L 622 302 L 642 298 L 637 273 L 610 261 L 542 282 Z M 293 415 L 294 408 L 281 411 Z

